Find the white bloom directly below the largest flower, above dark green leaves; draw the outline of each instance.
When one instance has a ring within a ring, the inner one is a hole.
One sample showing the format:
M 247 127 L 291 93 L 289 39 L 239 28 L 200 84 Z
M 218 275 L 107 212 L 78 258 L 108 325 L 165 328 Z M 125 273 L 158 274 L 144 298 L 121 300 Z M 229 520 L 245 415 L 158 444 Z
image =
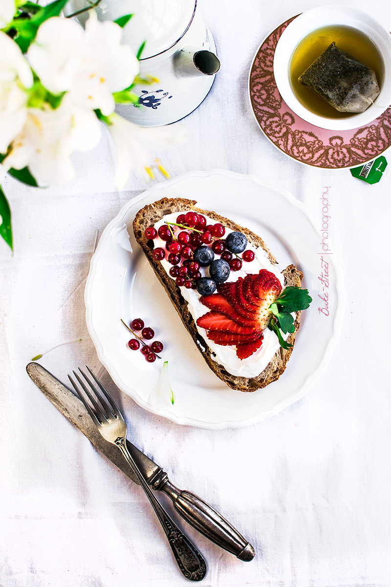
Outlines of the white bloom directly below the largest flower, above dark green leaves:
M 71 180 L 74 150 L 92 149 L 100 139 L 94 112 L 64 96 L 59 108 L 29 108 L 26 124 L 3 161 L 5 169 L 29 167 L 40 184 L 62 185 Z

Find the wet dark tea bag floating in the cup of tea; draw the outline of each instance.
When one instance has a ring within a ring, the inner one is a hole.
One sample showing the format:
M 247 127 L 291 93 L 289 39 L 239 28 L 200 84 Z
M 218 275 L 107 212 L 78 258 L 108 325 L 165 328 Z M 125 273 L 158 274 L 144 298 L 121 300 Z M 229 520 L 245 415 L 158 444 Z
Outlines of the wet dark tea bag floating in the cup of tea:
M 339 112 L 364 112 L 379 96 L 375 72 L 331 43 L 299 77 Z

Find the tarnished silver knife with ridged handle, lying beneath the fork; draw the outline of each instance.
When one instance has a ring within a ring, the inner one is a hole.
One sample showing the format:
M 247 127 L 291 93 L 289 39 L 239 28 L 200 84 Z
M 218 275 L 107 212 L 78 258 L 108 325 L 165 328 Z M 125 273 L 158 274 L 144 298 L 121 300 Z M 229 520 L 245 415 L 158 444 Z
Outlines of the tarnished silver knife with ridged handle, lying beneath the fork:
M 29 363 L 26 371 L 50 402 L 79 428 L 104 456 L 120 468 L 134 483 L 140 484 L 130 465 L 122 458 L 121 453 L 104 440 L 98 432 L 83 403 L 73 392 L 39 363 Z M 241 561 L 251 561 L 254 558 L 255 552 L 250 542 L 244 539 L 219 512 L 200 497 L 189 491 L 181 491 L 172 485 L 164 470 L 128 440 L 127 446 L 148 484 L 155 490 L 168 495 L 175 510 L 186 522 L 221 548 L 236 555 Z

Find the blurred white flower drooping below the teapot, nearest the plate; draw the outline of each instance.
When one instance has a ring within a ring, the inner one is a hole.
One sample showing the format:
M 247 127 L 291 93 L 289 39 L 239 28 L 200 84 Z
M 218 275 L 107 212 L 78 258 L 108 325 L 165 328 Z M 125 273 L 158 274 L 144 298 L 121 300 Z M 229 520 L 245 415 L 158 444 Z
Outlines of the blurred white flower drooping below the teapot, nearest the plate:
M 132 170 L 149 179 L 146 168 L 154 166 L 154 157 L 146 144 L 154 147 L 170 147 L 185 138 L 181 124 L 145 128 L 125 120 L 119 114 L 111 114 L 108 129 L 117 147 L 115 187 L 121 190 Z

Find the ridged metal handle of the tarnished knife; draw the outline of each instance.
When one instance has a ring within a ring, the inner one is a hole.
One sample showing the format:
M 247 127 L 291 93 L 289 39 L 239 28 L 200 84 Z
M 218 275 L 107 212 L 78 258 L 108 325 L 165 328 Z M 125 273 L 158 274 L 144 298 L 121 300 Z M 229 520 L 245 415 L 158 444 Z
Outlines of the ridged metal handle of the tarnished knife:
M 251 561 L 254 558 L 255 552 L 250 542 L 247 542 L 219 512 L 190 491 L 176 488 L 167 477 L 162 481 L 158 489 L 168 495 L 178 514 L 193 528 L 217 546 L 232 552 L 240 561 Z

